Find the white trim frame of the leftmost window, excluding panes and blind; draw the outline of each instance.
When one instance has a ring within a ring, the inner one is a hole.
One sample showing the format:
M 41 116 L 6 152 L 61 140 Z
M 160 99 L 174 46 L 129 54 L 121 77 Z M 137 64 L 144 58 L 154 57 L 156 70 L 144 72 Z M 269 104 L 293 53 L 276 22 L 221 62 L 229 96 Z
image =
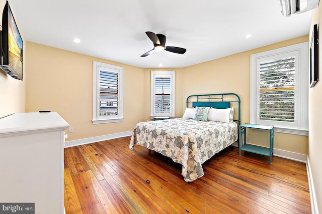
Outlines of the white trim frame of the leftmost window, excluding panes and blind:
M 100 101 L 100 68 L 118 73 L 118 115 L 99 115 Z M 114 123 L 123 121 L 123 67 L 93 61 L 93 124 Z

